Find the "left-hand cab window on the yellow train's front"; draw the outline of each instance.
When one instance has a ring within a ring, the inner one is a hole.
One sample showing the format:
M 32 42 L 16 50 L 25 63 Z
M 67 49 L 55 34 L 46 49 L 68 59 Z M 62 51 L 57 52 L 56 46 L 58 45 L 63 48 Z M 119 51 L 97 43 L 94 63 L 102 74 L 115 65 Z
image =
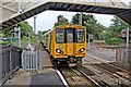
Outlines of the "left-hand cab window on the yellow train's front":
M 64 29 L 56 29 L 56 41 L 64 42 Z

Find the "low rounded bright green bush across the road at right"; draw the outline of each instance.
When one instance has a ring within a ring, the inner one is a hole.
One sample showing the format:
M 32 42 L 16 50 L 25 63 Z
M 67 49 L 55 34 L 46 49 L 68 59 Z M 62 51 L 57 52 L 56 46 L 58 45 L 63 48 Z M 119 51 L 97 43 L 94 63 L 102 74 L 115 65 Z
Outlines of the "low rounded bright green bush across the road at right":
M 112 38 L 107 39 L 106 42 L 107 42 L 107 45 L 114 45 L 115 46 L 115 45 L 120 45 L 124 41 L 121 38 L 112 37 Z

